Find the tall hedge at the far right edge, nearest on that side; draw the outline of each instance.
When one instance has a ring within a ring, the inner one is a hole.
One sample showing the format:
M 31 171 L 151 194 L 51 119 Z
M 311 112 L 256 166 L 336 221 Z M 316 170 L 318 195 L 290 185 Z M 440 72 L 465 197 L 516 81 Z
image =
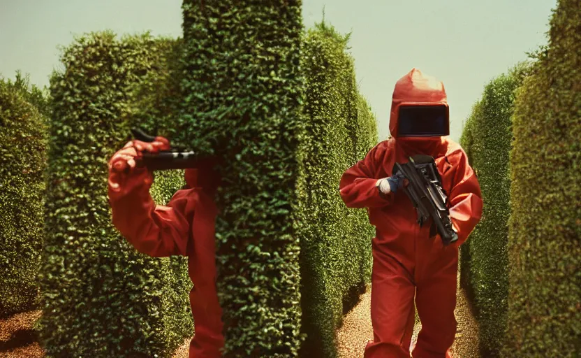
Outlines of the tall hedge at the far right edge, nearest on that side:
M 515 102 L 505 357 L 581 352 L 581 11 L 559 0 Z

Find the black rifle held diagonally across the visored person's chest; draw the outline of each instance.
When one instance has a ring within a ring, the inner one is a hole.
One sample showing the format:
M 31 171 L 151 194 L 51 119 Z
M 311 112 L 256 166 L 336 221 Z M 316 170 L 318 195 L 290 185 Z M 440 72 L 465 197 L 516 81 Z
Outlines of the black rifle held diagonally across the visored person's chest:
M 430 227 L 430 237 L 437 231 L 445 246 L 457 241 L 458 234 L 450 220 L 448 196 L 442 188 L 442 178 L 434 158 L 429 155 L 409 157 L 406 164 L 395 164 L 393 174 L 409 180 L 404 192 L 418 212 L 420 227 L 431 218 L 435 225 Z

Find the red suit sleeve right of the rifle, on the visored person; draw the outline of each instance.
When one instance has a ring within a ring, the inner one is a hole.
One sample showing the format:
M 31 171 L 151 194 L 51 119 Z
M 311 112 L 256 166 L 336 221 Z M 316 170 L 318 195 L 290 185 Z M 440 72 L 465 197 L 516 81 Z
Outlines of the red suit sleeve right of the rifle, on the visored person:
M 459 247 L 480 221 L 483 209 L 480 185 L 464 151 L 459 152 L 454 182 L 450 192 L 450 219 L 458 234 L 455 245 Z

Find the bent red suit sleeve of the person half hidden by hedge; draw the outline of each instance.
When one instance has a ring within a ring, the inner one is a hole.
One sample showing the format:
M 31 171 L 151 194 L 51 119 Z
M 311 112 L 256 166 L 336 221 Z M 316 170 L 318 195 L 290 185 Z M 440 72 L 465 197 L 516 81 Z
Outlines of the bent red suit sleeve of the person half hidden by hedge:
M 153 182 L 147 171 L 127 178 L 122 190 L 109 185 L 112 222 L 135 250 L 151 257 L 186 255 L 193 203 L 179 190 L 167 206 L 156 205 L 149 194 Z

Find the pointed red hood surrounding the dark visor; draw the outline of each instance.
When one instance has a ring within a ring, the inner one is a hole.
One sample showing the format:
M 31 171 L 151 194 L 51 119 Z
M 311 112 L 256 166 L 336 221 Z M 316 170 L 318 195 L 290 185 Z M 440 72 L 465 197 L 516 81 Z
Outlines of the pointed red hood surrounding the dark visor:
M 406 76 L 400 78 L 393 90 L 390 134 L 396 143 L 405 148 L 413 148 L 414 152 L 432 152 L 442 143 L 442 137 L 398 138 L 397 128 L 399 106 L 402 105 L 434 105 L 448 106 L 446 90 L 441 81 L 423 74 L 418 69 L 412 69 Z

